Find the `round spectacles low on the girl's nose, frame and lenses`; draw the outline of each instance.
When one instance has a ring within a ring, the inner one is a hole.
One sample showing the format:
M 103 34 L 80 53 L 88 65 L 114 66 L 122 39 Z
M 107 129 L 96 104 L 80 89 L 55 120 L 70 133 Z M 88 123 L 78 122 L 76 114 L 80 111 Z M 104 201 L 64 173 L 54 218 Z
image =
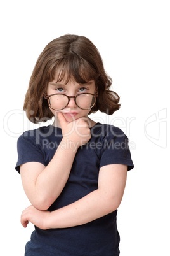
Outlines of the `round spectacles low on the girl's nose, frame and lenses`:
M 77 94 L 76 96 L 67 96 L 65 94 L 45 95 L 48 99 L 48 104 L 53 110 L 63 110 L 69 104 L 70 99 L 75 100 L 75 104 L 82 110 L 91 109 L 96 103 L 96 95 L 90 93 Z

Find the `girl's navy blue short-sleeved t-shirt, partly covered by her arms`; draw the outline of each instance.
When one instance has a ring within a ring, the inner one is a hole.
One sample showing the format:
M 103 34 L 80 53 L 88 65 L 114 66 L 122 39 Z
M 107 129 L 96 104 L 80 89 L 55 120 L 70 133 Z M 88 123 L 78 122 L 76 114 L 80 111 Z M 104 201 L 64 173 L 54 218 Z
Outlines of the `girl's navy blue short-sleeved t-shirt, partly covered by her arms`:
M 20 173 L 20 165 L 26 162 L 47 166 L 61 140 L 62 130 L 53 125 L 24 132 L 18 138 L 16 170 Z M 69 179 L 49 211 L 96 190 L 100 167 L 108 164 L 126 164 L 128 171 L 134 167 L 124 132 L 113 125 L 97 123 L 91 128 L 89 142 L 77 150 Z M 116 216 L 117 210 L 76 227 L 48 230 L 35 227 L 25 246 L 25 256 L 118 256 L 120 238 Z

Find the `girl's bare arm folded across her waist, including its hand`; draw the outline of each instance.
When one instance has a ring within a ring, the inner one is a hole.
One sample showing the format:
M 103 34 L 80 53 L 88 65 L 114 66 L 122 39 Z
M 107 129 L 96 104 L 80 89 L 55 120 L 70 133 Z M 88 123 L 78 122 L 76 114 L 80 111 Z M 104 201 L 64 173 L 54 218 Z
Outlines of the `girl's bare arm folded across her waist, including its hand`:
M 121 203 L 127 170 L 128 167 L 122 164 L 101 167 L 98 189 L 58 210 L 41 211 L 29 206 L 22 213 L 23 227 L 27 227 L 28 222 L 41 229 L 73 227 L 111 213 Z

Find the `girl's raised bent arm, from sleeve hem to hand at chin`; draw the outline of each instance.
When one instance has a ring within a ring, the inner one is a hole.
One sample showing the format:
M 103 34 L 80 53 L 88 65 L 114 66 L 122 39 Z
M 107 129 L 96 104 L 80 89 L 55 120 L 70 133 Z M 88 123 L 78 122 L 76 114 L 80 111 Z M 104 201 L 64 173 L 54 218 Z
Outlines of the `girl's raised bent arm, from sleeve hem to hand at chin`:
M 27 162 L 20 166 L 25 194 L 30 203 L 39 210 L 48 209 L 60 195 L 69 178 L 77 149 L 91 138 L 84 118 L 68 123 L 62 113 L 58 113 L 58 119 L 63 138 L 48 166 L 45 167 L 39 162 Z

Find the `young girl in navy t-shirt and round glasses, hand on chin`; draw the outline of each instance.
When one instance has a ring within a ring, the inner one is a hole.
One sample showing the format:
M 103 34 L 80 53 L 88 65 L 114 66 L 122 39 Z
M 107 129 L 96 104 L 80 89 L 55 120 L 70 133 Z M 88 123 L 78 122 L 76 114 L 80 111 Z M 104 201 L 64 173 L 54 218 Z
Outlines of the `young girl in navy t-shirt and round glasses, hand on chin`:
M 66 34 L 39 56 L 23 109 L 53 125 L 18 138 L 16 170 L 30 201 L 23 227 L 35 225 L 25 256 L 118 256 L 117 208 L 133 169 L 128 138 L 88 115 L 119 110 L 100 53 L 84 36 Z

